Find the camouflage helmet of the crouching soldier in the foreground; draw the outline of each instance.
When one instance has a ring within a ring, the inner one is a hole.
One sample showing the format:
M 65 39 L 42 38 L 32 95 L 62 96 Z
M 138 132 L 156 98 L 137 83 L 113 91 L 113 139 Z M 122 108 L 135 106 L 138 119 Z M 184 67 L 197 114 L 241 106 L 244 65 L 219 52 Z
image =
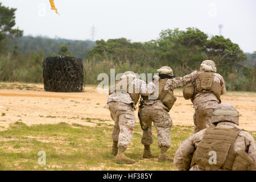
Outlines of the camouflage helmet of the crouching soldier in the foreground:
M 212 113 L 211 120 L 215 125 L 222 121 L 229 121 L 239 125 L 239 113 L 232 104 L 218 104 Z

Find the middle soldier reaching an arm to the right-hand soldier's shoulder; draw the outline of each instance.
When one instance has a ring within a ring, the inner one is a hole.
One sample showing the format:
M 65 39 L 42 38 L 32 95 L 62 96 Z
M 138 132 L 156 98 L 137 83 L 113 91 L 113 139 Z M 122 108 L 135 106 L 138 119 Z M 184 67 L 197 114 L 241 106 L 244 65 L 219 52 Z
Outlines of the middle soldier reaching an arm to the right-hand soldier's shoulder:
M 162 67 L 158 69 L 158 73 L 159 86 L 157 86 L 158 84 L 156 81 L 155 84 L 156 89 L 159 91 L 159 97 L 161 96 L 161 89 L 163 89 L 163 92 L 168 92 L 169 96 L 174 98 L 172 105 L 176 101 L 176 98 L 173 96 L 173 90 L 188 84 L 188 82 L 191 82 L 198 75 L 197 71 L 195 71 L 184 77 L 174 77 L 170 67 Z M 160 88 L 161 84 L 162 88 Z M 154 122 L 154 126 L 156 127 L 156 131 L 158 133 L 158 146 L 160 147 L 158 161 L 164 162 L 169 160 L 172 162 L 173 160 L 166 154 L 168 148 L 171 146 L 172 119 L 168 112 L 170 111 L 172 105 L 167 106 L 166 104 L 163 104 L 163 100 L 159 97 L 156 100 L 150 100 L 148 97 L 142 97 L 143 105 L 141 105 L 141 108 L 139 109 L 139 115 L 141 121 L 146 123 L 149 127 L 147 131 L 143 131 L 141 139 L 141 143 L 144 145 L 143 158 L 154 157 L 150 151 L 150 144 L 153 143 L 151 125 L 152 122 Z

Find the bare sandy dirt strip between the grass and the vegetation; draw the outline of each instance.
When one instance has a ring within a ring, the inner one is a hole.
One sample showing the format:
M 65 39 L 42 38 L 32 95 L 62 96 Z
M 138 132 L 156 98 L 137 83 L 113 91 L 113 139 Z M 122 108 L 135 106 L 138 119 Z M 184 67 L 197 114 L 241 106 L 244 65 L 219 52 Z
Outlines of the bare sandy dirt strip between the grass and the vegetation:
M 193 126 L 191 101 L 184 100 L 181 90 L 175 90 L 175 96 L 177 101 L 170 111 L 173 125 Z M 82 93 L 56 93 L 44 92 L 42 84 L 0 83 L 0 130 L 17 121 L 26 125 L 67 122 L 96 126 L 84 120 L 98 118 L 113 124 L 106 109 L 107 98 L 108 94 L 98 93 L 95 86 L 86 86 Z M 256 131 L 256 93 L 228 92 L 222 103 L 237 107 L 240 128 Z

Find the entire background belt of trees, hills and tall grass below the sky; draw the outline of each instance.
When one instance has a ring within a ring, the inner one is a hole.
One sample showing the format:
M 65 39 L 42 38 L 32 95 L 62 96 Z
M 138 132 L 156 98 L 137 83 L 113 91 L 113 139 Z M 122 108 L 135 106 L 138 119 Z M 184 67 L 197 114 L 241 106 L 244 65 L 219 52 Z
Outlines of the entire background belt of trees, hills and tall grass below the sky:
M 84 60 L 86 84 L 97 85 L 100 73 L 110 75 L 131 70 L 156 73 L 169 65 L 175 76 L 184 76 L 211 59 L 224 76 L 227 90 L 256 91 L 256 52 L 243 53 L 238 44 L 223 36 L 209 37 L 198 28 L 164 30 L 149 42 L 125 38 L 91 42 L 21 36 L 15 26 L 15 9 L 0 3 L 0 81 L 42 82 L 42 61 L 47 56 L 75 56 Z M 2 15 L 3 14 L 3 15 Z M 6 27 L 6 28 L 5 28 Z M 7 36 L 8 35 L 8 36 Z M 19 37 L 20 36 L 20 37 Z M 28 88 L 29 89 L 29 88 Z

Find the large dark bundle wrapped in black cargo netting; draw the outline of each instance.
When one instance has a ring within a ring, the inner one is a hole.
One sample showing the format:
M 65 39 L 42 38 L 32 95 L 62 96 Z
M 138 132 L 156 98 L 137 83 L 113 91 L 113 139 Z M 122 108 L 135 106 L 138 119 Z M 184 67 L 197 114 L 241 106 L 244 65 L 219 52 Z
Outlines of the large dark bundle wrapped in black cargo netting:
M 86 72 L 76 57 L 47 57 L 43 63 L 44 90 L 49 92 L 82 92 Z

